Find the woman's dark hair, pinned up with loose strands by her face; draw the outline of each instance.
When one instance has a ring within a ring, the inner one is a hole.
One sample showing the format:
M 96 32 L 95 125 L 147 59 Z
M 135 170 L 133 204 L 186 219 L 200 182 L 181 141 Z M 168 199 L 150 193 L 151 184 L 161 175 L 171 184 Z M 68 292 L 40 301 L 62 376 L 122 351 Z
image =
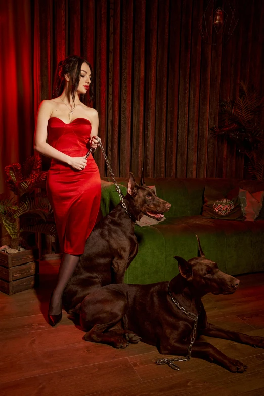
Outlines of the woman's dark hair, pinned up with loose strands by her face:
M 83 62 L 87 63 L 91 70 L 91 83 L 89 85 L 89 102 L 94 100 L 94 73 L 92 66 L 86 59 L 77 55 L 67 56 L 63 61 L 60 61 L 57 65 L 54 84 L 53 84 L 53 98 L 60 96 L 65 86 L 65 74 L 69 76 L 69 90 L 67 92 L 67 98 L 70 100 L 70 94 L 74 103 L 75 91 L 78 88 L 80 82 L 80 71 Z M 84 95 L 83 95 L 84 97 Z

